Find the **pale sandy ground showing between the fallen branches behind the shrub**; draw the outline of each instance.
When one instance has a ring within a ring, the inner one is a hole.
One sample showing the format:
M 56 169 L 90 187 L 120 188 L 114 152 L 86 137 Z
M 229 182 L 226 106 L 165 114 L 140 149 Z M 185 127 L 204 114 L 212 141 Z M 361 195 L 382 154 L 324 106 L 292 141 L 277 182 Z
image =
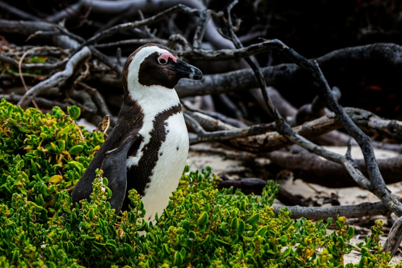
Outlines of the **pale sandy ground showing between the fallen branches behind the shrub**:
M 208 144 L 197 145 L 199 148 L 208 148 Z M 327 149 L 337 152 L 338 154 L 345 154 L 346 147 L 326 147 Z M 397 156 L 396 152 L 375 149 L 375 156 L 377 159 L 391 158 Z M 354 159 L 362 159 L 362 153 L 359 147 L 352 147 L 352 157 Z M 266 161 L 266 160 L 265 160 Z M 248 167 L 244 166 L 242 161 L 225 159 L 222 156 L 216 154 L 207 154 L 201 152 L 195 152 L 190 150 L 188 154 L 187 164 L 190 165 L 191 170 L 201 169 L 207 165 L 212 167 L 212 171 L 215 174 L 223 174 L 229 178 L 236 179 L 237 173 L 244 173 L 248 170 Z M 316 184 L 307 184 L 300 179 L 288 179 L 281 182 L 281 187 L 288 190 L 294 195 L 301 195 L 305 199 L 311 198 L 316 200 L 317 203 L 321 204 L 324 197 L 330 196 L 331 193 L 338 195 L 338 201 L 341 205 L 351 205 L 359 204 L 362 202 L 377 202 L 379 199 L 372 193 L 362 190 L 358 187 L 349 188 L 327 188 Z M 390 190 L 397 196 L 402 197 L 402 183 L 394 183 L 388 185 Z M 275 204 L 281 204 L 279 201 L 275 201 Z M 325 204 L 328 205 L 328 204 Z M 384 216 L 372 217 L 371 219 L 348 219 L 348 224 L 355 226 L 356 236 L 351 240 L 351 243 L 356 244 L 358 242 L 363 242 L 366 235 L 370 235 L 370 224 L 373 225 L 376 219 L 382 219 L 384 223 L 387 223 L 387 218 Z M 395 215 L 391 215 L 392 220 L 396 220 Z M 361 224 L 366 223 L 366 224 Z M 360 226 L 365 225 L 365 226 Z M 367 225 L 367 226 L 366 226 Z M 381 241 L 385 242 L 387 238 L 387 232 L 389 227 L 384 228 L 385 234 L 382 235 Z M 328 232 L 333 232 L 332 229 L 328 229 Z M 358 263 L 360 260 L 360 253 L 357 251 L 352 251 L 350 254 L 344 257 L 345 263 L 352 262 Z M 399 263 L 402 261 L 401 254 L 396 254 L 392 259 L 394 263 Z

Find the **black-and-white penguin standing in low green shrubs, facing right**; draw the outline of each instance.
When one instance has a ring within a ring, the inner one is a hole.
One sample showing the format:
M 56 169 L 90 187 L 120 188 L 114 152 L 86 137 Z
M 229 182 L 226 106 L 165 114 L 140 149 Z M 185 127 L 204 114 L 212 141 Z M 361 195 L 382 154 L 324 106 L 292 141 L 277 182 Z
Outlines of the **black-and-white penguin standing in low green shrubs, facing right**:
M 116 126 L 75 185 L 72 201 L 89 200 L 95 170 L 103 169 L 116 214 L 129 209 L 128 191 L 141 196 L 147 221 L 162 215 L 188 154 L 188 133 L 174 87 L 202 72 L 159 44 L 139 47 L 123 67 L 124 101 Z

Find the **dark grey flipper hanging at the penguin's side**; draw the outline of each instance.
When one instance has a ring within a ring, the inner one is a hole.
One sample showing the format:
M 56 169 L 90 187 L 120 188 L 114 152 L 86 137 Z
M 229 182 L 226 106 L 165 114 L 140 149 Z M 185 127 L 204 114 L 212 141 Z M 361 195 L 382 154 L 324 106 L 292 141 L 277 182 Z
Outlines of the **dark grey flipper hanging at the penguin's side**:
M 106 152 L 106 156 L 102 163 L 103 176 L 107 178 L 109 182 L 108 187 L 112 192 L 112 196 L 108 201 L 110 207 L 116 209 L 117 215 L 120 213 L 126 195 L 127 153 L 137 138 L 137 135 L 129 136 L 118 148 Z

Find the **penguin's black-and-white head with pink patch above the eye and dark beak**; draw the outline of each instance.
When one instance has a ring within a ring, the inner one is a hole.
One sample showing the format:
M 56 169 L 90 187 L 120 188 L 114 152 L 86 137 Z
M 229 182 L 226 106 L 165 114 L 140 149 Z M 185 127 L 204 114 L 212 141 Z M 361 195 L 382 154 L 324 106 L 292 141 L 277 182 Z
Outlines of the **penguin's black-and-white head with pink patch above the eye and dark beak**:
M 182 78 L 200 80 L 202 72 L 180 60 L 173 50 L 159 44 L 139 47 L 123 67 L 125 93 L 138 86 L 173 89 Z

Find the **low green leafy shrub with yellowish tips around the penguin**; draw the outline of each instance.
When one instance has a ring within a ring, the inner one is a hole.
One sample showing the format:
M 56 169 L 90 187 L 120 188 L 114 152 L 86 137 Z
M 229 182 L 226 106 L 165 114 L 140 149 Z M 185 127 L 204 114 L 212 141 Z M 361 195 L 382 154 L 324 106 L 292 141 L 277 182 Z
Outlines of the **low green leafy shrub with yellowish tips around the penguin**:
M 24 267 L 343 267 L 354 236 L 344 217 L 327 235 L 327 223 L 290 219 L 271 207 L 279 186 L 270 181 L 261 197 L 216 188 L 209 167 L 188 173 L 155 225 L 130 190 L 132 210 L 116 216 L 102 170 L 91 202 L 71 207 L 71 190 L 104 141 L 69 116 L 0 103 L 0 266 Z M 65 213 L 66 218 L 61 217 Z M 391 267 L 380 251 L 381 221 L 361 247 L 358 264 Z M 146 236 L 140 233 L 146 232 Z M 370 253 L 374 250 L 374 253 Z M 402 266 L 397 267 L 401 268 Z

